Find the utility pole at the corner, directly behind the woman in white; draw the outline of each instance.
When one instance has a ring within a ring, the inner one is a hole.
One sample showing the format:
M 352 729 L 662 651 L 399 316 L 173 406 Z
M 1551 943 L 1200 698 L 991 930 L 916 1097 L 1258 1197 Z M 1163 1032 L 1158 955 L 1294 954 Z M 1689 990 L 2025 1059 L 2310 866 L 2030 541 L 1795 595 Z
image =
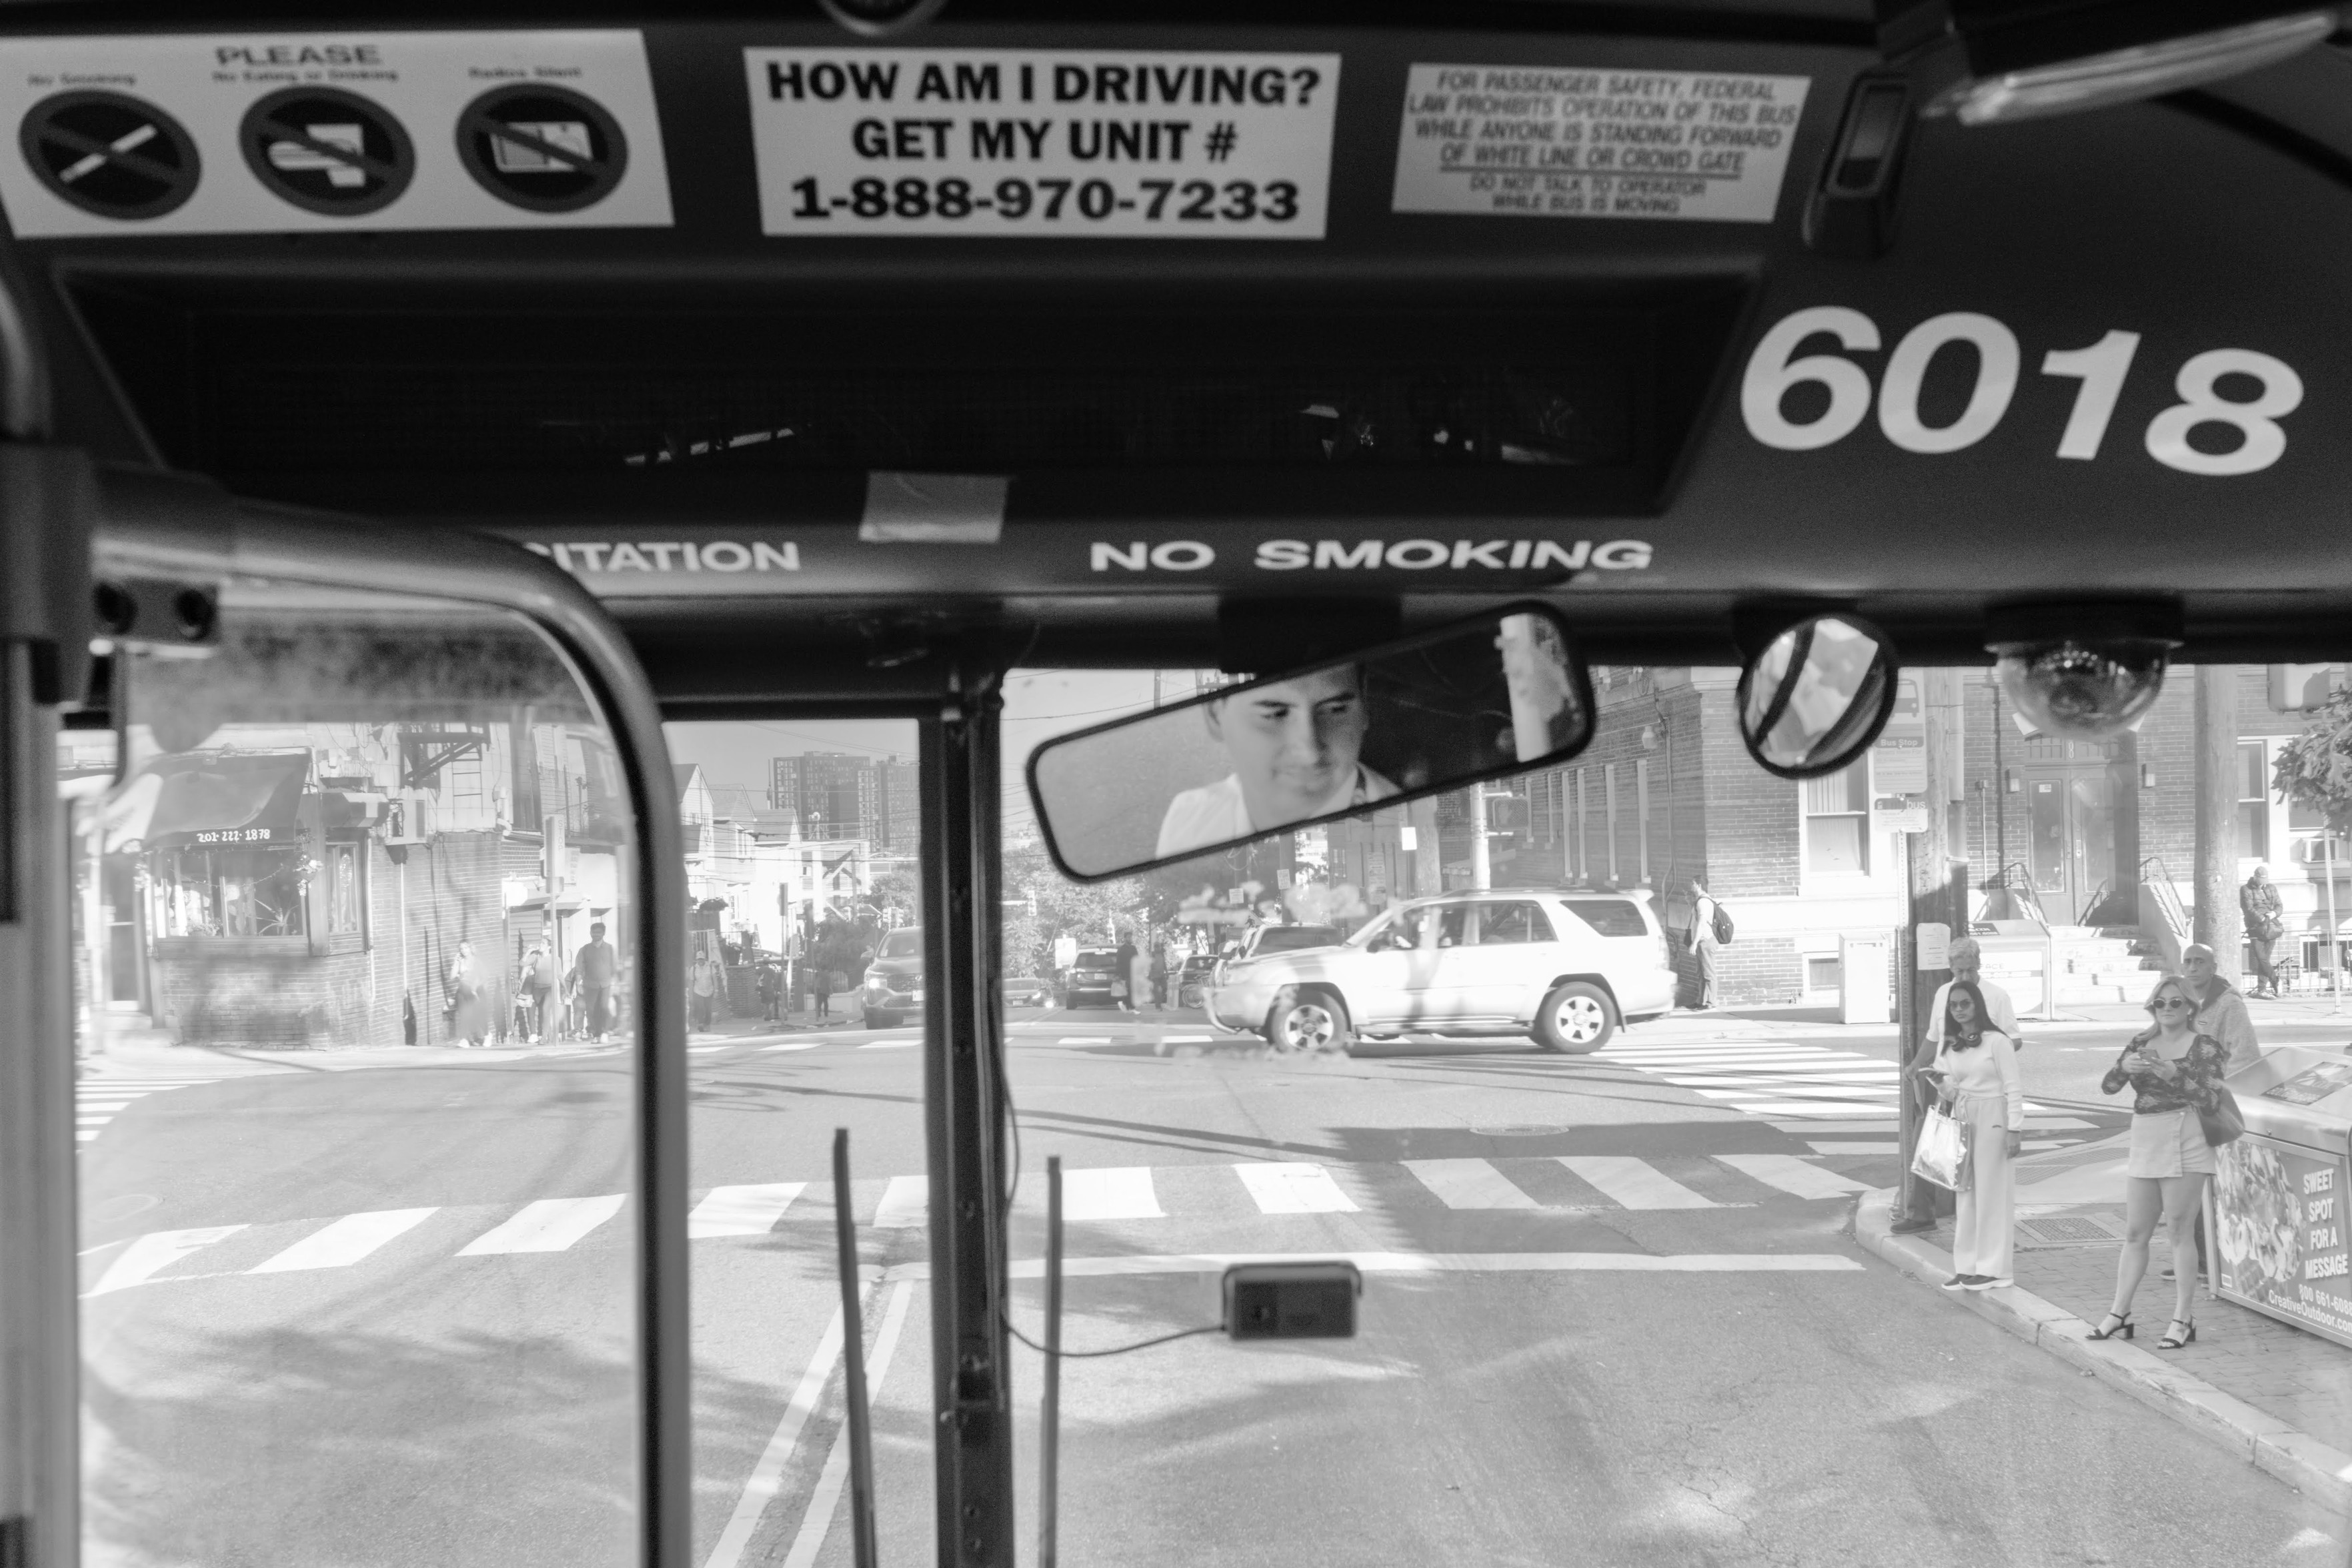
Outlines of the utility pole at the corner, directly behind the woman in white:
M 1919 1147 L 1922 1105 L 1907 1067 L 1926 1065 L 1929 1060 L 1929 1006 L 1936 999 L 1936 990 L 1952 978 L 1945 952 L 1952 936 L 1966 936 L 1969 931 L 1966 818 L 1962 816 L 1966 811 L 1966 790 L 1957 788 L 1964 771 L 1959 679 L 1959 670 L 1919 670 L 1912 679 L 1903 682 L 1917 682 L 1915 701 L 1924 719 L 1926 741 L 1924 766 L 1907 776 L 1898 773 L 1893 780 L 1882 778 L 1879 783 L 1879 792 L 1903 795 L 1912 795 L 1912 790 L 1889 790 L 1886 785 L 1917 783 L 1917 802 L 1926 806 L 1924 832 L 1903 835 L 1907 907 L 1903 929 L 1896 933 L 1896 1051 L 1905 1074 L 1898 1103 L 1903 1185 L 1896 1192 L 1898 1201 L 1891 1227 L 1900 1232 L 1929 1229 L 1936 1215 L 1950 1213 L 1952 1206 L 1950 1192 L 1910 1173 L 1912 1150 Z M 1893 766 L 1886 771 L 1893 771 Z M 1931 938 L 1940 926 L 1940 940 L 1922 943 L 1922 926 L 1929 929 Z

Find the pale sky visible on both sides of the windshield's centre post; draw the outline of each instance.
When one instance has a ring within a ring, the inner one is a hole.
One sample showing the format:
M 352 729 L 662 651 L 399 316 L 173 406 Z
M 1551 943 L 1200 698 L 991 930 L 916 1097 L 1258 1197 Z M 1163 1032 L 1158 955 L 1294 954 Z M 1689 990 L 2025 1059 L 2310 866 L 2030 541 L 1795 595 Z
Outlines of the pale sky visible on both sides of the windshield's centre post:
M 1190 696 L 1197 675 L 1160 677 L 1162 701 Z M 1040 741 L 1101 724 L 1152 705 L 1150 670 L 1014 670 L 1004 682 L 1004 820 L 1007 832 L 1028 823 L 1023 766 Z M 854 752 L 915 759 L 913 719 L 727 719 L 668 724 L 673 762 L 703 769 L 720 811 L 767 811 L 767 764 L 800 752 Z

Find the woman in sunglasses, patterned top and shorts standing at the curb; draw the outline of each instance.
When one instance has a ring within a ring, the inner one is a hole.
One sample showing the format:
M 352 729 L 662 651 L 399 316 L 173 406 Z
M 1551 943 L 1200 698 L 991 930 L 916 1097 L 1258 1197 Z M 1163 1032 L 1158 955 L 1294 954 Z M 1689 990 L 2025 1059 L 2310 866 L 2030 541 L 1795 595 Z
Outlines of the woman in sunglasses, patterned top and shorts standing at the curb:
M 2098 1321 L 2093 1340 L 2133 1338 L 2131 1295 L 2147 1274 L 2147 1239 L 2157 1234 L 2157 1215 L 2173 1244 L 2173 1258 L 2197 1255 L 2197 1213 L 2204 1206 L 2204 1182 L 2213 1173 L 2213 1147 L 2204 1140 L 2199 1110 L 2216 1105 L 2216 1084 L 2230 1053 L 2211 1034 L 2190 1027 L 2197 997 L 2187 980 L 2164 976 L 2147 997 L 2157 1027 L 2124 1046 L 2114 1067 L 2100 1081 L 2103 1093 L 2124 1084 L 2138 1091 L 2131 1105 L 2131 1161 L 2124 1166 L 2124 1255 L 2114 1262 L 2114 1307 Z M 2197 1269 L 2178 1267 L 2173 1279 L 2173 1321 L 2157 1349 L 2180 1349 L 2197 1338 Z

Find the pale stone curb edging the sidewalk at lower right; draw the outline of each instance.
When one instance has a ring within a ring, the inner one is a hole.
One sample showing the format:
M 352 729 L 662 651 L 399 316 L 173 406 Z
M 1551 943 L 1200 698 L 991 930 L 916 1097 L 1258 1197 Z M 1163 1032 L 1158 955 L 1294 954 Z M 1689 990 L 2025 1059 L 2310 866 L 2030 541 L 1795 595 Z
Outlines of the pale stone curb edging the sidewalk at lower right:
M 1853 1239 L 1933 1288 L 1952 1276 L 1952 1255 L 1917 1237 L 1889 1229 L 1893 1190 L 1865 1192 L 1853 1211 Z M 1945 1295 L 1945 1291 L 1938 1291 Z M 2256 1410 L 2244 1399 L 2225 1394 L 2201 1378 L 2190 1378 L 2171 1361 L 2133 1347 L 2129 1340 L 2091 1340 L 2091 1324 L 2056 1307 L 2032 1291 L 1959 1291 L 1952 1300 L 1976 1316 L 2006 1328 L 2027 1345 L 2046 1349 L 2074 1371 L 2091 1373 L 2152 1410 L 2220 1443 L 2256 1469 L 2286 1481 L 2307 1497 L 2338 1512 L 2352 1512 L 2352 1455 L 2298 1432 L 2277 1415 Z

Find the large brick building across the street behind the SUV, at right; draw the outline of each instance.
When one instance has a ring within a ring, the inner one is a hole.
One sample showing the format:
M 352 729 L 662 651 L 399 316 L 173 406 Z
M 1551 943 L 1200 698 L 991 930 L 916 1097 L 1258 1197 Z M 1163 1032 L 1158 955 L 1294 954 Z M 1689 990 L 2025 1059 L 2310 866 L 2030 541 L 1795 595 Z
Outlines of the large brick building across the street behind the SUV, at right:
M 1813 780 L 1773 778 L 1740 745 L 1736 670 L 1599 668 L 1599 726 L 1566 766 L 1522 776 L 1491 806 L 1491 882 L 1651 889 L 1677 938 L 1689 884 L 1705 882 L 1738 924 L 1722 952 L 1731 1004 L 1837 999 L 1846 933 L 1879 936 L 1903 919 L 1903 835 L 1872 818 L 1875 759 Z M 2032 889 L 2053 926 L 2136 936 L 2161 922 L 2143 879 L 2194 900 L 2194 682 L 2176 670 L 2136 733 L 2103 743 L 2030 733 L 1990 670 L 1962 689 L 1962 783 L 1969 879 Z M 2319 823 L 2270 795 L 2270 769 L 2305 715 L 2277 712 L 2263 668 L 2237 668 L 2241 882 L 2270 865 L 2286 903 L 2279 957 L 2321 961 Z M 1470 879 L 1465 797 L 1439 802 L 1446 886 Z M 2352 917 L 2338 849 L 2336 907 Z M 1983 896 L 1978 898 L 1983 914 Z M 2145 919 L 2143 919 L 2145 917 Z M 1689 964 L 1689 959 L 1684 959 Z

